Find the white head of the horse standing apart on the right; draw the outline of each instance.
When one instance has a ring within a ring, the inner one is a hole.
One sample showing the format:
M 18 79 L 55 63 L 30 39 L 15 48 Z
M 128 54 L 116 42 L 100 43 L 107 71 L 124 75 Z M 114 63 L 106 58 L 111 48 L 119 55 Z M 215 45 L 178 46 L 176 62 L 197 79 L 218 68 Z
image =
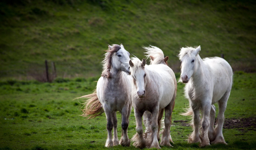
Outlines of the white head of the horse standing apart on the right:
M 191 76 L 197 70 L 198 67 L 198 53 L 201 47 L 197 48 L 186 47 L 181 48 L 179 53 L 179 59 L 181 61 L 181 74 L 180 81 L 188 83 Z

